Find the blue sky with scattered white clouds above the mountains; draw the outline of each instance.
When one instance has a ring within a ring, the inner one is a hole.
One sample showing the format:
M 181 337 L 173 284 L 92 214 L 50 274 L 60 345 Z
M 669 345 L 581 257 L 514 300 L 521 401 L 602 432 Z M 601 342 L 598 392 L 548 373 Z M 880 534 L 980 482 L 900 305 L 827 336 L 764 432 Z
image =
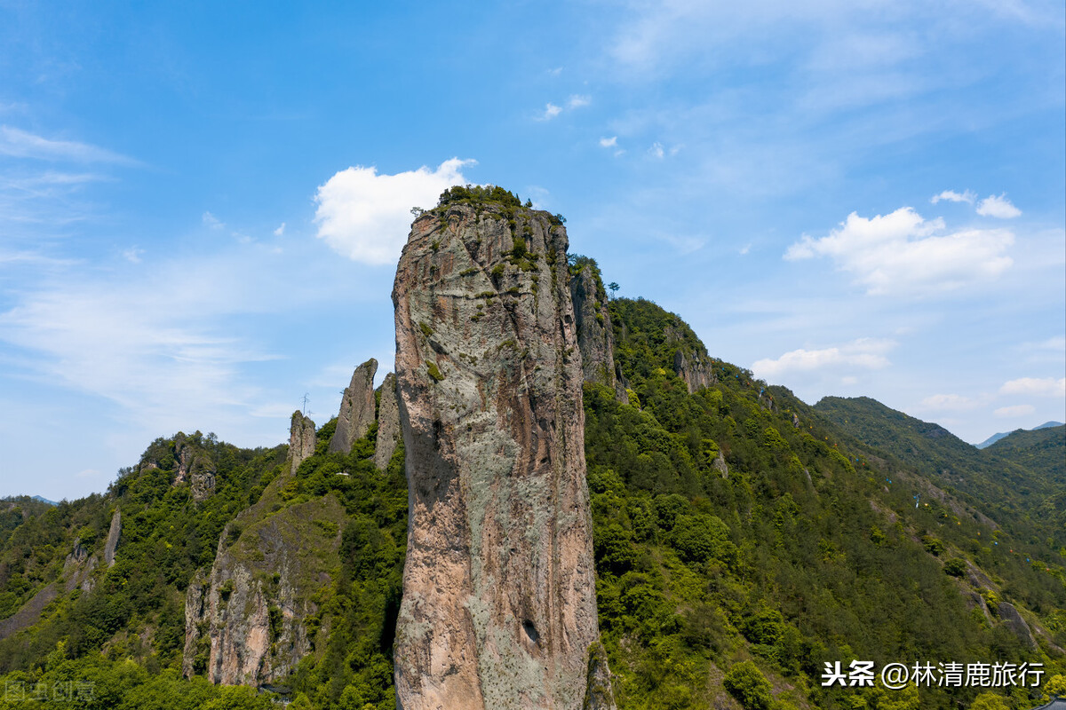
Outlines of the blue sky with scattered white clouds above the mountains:
M 807 402 L 1066 420 L 1062 0 L 0 0 L 0 496 L 287 441 L 497 184 Z

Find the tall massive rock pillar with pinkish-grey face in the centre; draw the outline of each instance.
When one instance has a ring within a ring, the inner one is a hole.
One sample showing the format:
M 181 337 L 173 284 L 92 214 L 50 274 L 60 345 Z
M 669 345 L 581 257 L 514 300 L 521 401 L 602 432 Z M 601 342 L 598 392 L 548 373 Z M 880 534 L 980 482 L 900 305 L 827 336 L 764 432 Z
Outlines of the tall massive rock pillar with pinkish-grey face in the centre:
M 416 219 L 400 259 L 404 710 L 613 706 L 589 654 L 599 632 L 566 249 L 547 213 L 452 204 Z

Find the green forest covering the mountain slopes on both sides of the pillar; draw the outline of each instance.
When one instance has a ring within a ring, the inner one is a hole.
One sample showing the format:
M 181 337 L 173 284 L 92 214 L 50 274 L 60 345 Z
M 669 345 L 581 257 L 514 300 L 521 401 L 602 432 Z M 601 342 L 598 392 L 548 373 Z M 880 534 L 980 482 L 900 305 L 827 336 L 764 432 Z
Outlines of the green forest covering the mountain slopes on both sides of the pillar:
M 464 189 L 446 195 L 517 202 L 500 188 Z M 607 297 L 602 284 L 597 293 Z M 692 330 L 647 300 L 609 309 L 629 392 L 620 402 L 585 385 L 585 449 L 600 627 L 619 708 L 1028 710 L 1038 693 L 826 690 L 822 672 L 857 659 L 1032 661 L 1046 664 L 1046 678 L 1066 673 L 1054 648 L 1066 646 L 1063 551 L 1054 518 L 1037 514 L 1062 501 L 1057 440 L 1004 440 L 989 458 L 872 400 L 811 408 L 721 361 L 716 382 L 690 394 L 674 363 L 679 348 L 702 350 Z M 314 455 L 291 479 L 285 446 L 245 450 L 196 432 L 154 442 L 104 495 L 0 503 L 0 620 L 46 601 L 39 622 L 0 641 L 10 691 L 0 708 L 42 707 L 32 699 L 41 689 L 81 708 L 274 707 L 270 693 L 180 677 L 185 590 L 210 567 L 224 530 L 240 535 L 227 525 L 241 511 L 266 503 L 282 514 L 326 498 L 343 509 L 339 568 L 307 620 L 311 654 L 275 690 L 292 708 L 393 708 L 403 449 L 381 472 L 370 460 L 373 428 L 342 455 L 327 452 L 334 427 L 319 430 Z M 201 501 L 188 482 L 175 485 L 182 445 L 216 470 Z M 67 590 L 68 556 L 80 547 L 102 559 L 116 509 L 115 564 Z M 979 590 L 971 577 L 984 576 Z M 1000 602 L 1047 630 L 1036 648 L 1002 622 Z

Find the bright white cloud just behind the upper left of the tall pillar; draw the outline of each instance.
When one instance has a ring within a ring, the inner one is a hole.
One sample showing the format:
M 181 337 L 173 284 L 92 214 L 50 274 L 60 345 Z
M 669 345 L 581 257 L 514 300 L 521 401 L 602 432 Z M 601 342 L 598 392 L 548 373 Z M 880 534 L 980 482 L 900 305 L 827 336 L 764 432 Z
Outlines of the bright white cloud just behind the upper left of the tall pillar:
M 433 207 L 440 193 L 468 181 L 462 168 L 473 160 L 453 158 L 435 170 L 378 175 L 375 167 L 350 167 L 319 186 L 314 195 L 318 237 L 335 251 L 364 264 L 393 264 L 410 231 L 410 209 Z

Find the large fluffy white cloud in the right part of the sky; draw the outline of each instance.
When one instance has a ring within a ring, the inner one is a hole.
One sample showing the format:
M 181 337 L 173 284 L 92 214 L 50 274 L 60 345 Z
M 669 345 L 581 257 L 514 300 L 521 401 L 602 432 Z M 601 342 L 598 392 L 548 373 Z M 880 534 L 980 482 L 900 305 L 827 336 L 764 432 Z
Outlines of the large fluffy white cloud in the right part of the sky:
M 871 295 L 924 295 L 987 283 L 1006 270 L 1014 234 L 1002 229 L 935 235 L 942 219 L 925 220 L 911 208 L 871 219 L 856 213 L 822 238 L 808 235 L 789 247 L 785 259 L 829 257 L 855 276 Z

